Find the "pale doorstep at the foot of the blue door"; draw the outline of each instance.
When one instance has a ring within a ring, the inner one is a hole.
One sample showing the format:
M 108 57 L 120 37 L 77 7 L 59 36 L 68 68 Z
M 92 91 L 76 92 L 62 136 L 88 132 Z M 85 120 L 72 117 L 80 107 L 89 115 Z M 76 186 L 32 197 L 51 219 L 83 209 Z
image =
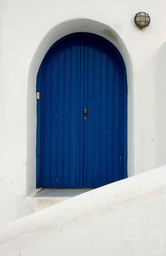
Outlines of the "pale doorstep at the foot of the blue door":
M 91 189 L 41 189 L 33 198 L 34 211 L 42 210 L 90 190 Z

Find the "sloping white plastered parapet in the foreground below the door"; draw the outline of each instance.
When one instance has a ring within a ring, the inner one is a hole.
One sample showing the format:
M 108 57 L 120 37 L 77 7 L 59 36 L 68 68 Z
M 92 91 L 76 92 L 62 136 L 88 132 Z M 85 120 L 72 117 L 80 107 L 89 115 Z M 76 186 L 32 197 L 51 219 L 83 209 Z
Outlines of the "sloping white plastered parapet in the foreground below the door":
M 166 254 L 166 166 L 0 227 L 3 256 Z

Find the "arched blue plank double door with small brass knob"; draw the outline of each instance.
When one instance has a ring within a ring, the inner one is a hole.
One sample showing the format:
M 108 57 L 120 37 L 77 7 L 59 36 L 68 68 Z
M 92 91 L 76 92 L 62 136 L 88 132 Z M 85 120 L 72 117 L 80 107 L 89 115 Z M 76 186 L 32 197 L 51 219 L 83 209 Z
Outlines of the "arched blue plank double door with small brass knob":
M 109 41 L 75 33 L 56 42 L 37 92 L 37 188 L 95 188 L 127 177 L 126 70 Z

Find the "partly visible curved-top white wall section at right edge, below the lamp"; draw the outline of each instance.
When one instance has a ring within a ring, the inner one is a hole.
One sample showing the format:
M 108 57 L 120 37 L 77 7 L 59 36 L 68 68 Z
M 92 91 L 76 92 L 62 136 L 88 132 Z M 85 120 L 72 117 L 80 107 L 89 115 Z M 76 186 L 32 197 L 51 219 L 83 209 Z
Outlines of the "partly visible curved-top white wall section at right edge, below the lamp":
M 166 164 L 166 41 L 155 53 L 153 65 L 154 155 L 153 167 Z

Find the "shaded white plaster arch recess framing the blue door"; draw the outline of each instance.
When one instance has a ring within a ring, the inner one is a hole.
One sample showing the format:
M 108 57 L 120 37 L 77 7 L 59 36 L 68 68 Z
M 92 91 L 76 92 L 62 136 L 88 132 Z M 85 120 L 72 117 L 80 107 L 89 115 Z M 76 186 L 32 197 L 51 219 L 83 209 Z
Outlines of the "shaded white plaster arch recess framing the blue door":
M 134 91 L 131 58 L 120 36 L 110 26 L 98 21 L 79 18 L 64 21 L 53 27 L 41 40 L 30 63 L 27 84 L 27 169 L 26 193 L 36 187 L 36 78 L 40 64 L 49 48 L 60 38 L 75 32 L 89 32 L 110 41 L 125 62 L 128 83 L 128 177 L 134 175 Z

